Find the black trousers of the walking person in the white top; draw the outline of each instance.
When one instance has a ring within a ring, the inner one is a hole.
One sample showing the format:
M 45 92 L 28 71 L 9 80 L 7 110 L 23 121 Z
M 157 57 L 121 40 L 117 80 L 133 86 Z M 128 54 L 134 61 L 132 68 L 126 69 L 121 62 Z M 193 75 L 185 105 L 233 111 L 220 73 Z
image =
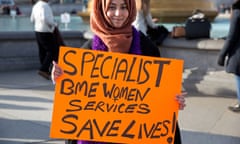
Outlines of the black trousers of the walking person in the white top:
M 52 61 L 57 61 L 58 59 L 59 47 L 56 38 L 54 34 L 50 32 L 35 32 L 35 34 L 41 64 L 39 70 L 50 72 Z

